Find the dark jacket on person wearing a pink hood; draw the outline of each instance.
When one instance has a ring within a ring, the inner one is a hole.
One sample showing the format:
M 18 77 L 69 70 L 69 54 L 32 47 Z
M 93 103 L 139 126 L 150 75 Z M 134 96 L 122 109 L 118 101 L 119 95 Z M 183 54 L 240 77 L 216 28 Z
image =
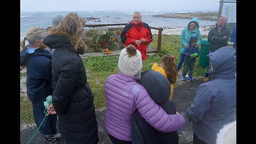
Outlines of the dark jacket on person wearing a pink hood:
M 216 51 L 220 47 L 228 46 L 227 42 L 228 42 L 230 35 L 231 35 L 231 30 L 227 26 L 224 26 L 221 29 L 220 34 L 218 33 L 217 25 L 215 27 L 213 27 L 212 29 L 210 29 L 210 31 L 208 33 L 208 37 L 207 37 L 208 42 L 211 43 L 211 45 L 209 46 L 209 50 Z M 226 36 L 226 37 L 223 38 L 223 36 Z

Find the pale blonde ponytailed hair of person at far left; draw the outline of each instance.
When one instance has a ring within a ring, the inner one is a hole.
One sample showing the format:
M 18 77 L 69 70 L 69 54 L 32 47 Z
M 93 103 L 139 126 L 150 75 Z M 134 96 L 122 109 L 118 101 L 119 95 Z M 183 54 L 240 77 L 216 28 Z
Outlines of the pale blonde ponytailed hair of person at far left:
M 44 33 L 46 33 L 44 28 L 39 28 L 39 27 L 33 27 L 29 28 L 26 37 L 21 39 L 20 41 L 20 47 L 22 50 L 25 50 L 25 39 L 28 41 L 29 45 L 34 45 L 36 42 L 36 39 L 43 39 L 44 38 Z

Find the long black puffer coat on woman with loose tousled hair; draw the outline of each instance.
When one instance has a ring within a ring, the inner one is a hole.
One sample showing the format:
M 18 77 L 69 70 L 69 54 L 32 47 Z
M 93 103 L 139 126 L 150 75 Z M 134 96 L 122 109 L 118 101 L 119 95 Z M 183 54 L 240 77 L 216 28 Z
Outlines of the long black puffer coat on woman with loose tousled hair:
M 44 44 L 55 49 L 52 57 L 52 103 L 59 116 L 59 130 L 67 143 L 98 143 L 93 94 L 81 57 L 66 37 L 46 36 Z

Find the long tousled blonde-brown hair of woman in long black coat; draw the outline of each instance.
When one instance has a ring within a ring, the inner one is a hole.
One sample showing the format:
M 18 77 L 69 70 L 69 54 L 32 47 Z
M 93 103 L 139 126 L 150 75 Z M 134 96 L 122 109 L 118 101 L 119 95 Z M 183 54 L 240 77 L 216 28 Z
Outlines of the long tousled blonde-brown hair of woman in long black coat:
M 64 36 L 69 39 L 70 43 L 74 46 L 71 49 L 77 51 L 82 48 L 84 51 L 87 49 L 82 41 L 85 21 L 76 12 L 68 13 L 59 23 L 49 31 L 51 36 Z

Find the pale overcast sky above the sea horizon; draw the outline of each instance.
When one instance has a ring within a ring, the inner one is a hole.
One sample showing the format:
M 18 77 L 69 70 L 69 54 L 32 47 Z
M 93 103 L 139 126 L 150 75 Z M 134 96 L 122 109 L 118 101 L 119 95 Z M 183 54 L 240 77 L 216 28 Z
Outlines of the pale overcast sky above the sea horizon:
M 220 0 L 20 0 L 20 11 L 219 11 L 219 1 Z

